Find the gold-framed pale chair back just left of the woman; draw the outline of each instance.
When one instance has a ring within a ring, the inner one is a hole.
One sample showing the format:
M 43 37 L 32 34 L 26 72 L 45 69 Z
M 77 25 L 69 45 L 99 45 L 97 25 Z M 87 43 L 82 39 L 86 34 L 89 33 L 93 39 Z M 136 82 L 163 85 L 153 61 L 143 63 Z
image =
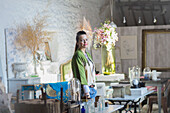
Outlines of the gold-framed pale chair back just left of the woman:
M 60 79 L 61 82 L 69 81 L 71 78 L 73 78 L 71 60 L 68 60 L 66 63 L 61 64 L 60 72 L 61 72 L 61 79 Z

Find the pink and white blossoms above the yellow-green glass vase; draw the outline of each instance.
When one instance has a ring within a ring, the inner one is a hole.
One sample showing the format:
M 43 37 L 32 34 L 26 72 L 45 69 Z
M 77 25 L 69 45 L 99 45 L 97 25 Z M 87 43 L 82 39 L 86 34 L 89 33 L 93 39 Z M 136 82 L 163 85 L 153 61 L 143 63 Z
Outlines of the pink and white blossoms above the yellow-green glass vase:
M 96 48 L 98 44 L 105 45 L 106 50 L 111 51 L 116 41 L 118 41 L 118 34 L 115 28 L 110 25 L 110 21 L 105 21 L 105 23 L 101 25 L 100 28 L 95 28 L 94 30 L 94 48 Z

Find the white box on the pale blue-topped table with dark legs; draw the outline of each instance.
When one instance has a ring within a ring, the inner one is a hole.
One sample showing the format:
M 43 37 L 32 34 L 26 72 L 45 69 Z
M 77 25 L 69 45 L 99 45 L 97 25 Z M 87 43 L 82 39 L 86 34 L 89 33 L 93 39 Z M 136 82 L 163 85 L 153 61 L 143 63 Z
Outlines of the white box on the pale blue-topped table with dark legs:
M 131 88 L 131 95 L 133 96 L 141 96 L 143 94 L 145 94 L 147 92 L 147 88 L 146 87 L 142 87 L 142 88 Z

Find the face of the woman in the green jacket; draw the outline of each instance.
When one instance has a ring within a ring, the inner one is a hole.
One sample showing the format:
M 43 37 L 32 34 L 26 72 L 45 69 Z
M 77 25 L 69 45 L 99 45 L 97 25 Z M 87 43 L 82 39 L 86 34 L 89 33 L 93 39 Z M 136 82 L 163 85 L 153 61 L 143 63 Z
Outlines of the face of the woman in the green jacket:
M 77 42 L 77 45 L 78 45 L 79 49 L 87 48 L 87 46 L 88 46 L 88 38 L 87 38 L 87 36 L 85 34 L 80 35 L 79 41 Z

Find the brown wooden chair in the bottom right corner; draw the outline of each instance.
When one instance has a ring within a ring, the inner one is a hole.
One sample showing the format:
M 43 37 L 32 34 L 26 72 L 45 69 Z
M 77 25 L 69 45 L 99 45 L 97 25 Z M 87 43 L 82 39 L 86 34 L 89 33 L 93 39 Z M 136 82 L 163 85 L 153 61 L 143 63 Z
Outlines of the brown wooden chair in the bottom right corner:
M 165 84 L 164 91 L 162 91 L 162 95 L 164 95 L 164 93 L 166 91 L 168 91 L 167 92 L 168 95 L 170 94 L 169 84 L 170 84 L 170 80 L 168 80 L 168 82 Z M 161 104 L 162 104 L 164 113 L 168 113 L 168 111 L 167 111 L 167 99 L 168 99 L 167 96 L 168 95 L 164 95 L 161 97 Z M 152 112 L 152 105 L 154 103 L 157 103 L 157 100 L 158 100 L 157 96 L 150 96 L 148 98 L 149 109 L 148 109 L 147 113 Z

